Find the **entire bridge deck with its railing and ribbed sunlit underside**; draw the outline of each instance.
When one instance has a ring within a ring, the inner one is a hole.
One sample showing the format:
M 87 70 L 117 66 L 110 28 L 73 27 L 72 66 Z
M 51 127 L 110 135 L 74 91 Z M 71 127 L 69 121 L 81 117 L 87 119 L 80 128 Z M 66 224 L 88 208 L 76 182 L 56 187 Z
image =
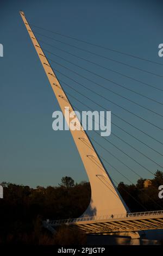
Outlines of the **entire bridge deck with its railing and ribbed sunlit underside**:
M 48 222 L 51 227 L 58 227 L 61 224 L 70 227 L 75 225 L 87 234 L 163 229 L 163 211 L 135 212 L 125 215 L 83 217 Z

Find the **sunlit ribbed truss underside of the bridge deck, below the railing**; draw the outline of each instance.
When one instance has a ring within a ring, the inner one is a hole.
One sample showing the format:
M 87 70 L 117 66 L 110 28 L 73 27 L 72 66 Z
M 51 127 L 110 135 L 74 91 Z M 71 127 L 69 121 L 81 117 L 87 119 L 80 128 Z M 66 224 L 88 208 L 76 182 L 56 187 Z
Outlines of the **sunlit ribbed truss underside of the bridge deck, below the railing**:
M 140 214 L 138 216 L 130 215 L 121 218 L 102 218 L 101 220 L 82 218 L 73 219 L 72 221 L 51 221 L 47 224 L 54 229 L 61 224 L 66 224 L 70 228 L 78 227 L 86 234 L 118 234 L 130 236 L 131 238 L 139 238 L 140 236 L 137 232 L 142 230 L 163 229 L 163 211 L 152 212 L 149 215 L 144 213 L 142 216 Z

